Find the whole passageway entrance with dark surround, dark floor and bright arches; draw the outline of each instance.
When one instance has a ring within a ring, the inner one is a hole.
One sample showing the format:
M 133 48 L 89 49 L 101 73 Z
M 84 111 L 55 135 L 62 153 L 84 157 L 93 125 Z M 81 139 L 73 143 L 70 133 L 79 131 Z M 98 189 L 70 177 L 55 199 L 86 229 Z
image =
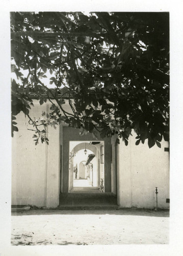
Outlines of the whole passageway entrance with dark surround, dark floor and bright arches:
M 112 193 L 111 138 L 98 138 L 63 127 L 61 208 L 117 205 Z

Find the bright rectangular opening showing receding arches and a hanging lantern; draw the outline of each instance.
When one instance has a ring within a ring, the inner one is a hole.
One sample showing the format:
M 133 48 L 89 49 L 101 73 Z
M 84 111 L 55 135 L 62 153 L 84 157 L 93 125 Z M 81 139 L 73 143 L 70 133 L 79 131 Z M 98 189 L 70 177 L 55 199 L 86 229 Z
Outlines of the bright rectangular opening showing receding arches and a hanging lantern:
M 104 192 L 104 141 L 69 142 L 69 192 Z

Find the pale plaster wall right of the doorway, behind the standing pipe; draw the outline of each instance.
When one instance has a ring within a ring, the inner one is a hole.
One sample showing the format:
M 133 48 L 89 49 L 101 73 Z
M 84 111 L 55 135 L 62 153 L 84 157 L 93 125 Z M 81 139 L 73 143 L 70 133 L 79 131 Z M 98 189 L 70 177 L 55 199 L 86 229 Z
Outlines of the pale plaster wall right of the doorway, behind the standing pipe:
M 158 207 L 169 207 L 169 147 L 162 141 L 162 147 L 149 148 L 147 142 L 135 145 L 135 136 L 130 137 L 128 146 L 120 140 L 118 148 L 118 203 L 122 207 L 156 206 L 155 187 L 158 187 Z

